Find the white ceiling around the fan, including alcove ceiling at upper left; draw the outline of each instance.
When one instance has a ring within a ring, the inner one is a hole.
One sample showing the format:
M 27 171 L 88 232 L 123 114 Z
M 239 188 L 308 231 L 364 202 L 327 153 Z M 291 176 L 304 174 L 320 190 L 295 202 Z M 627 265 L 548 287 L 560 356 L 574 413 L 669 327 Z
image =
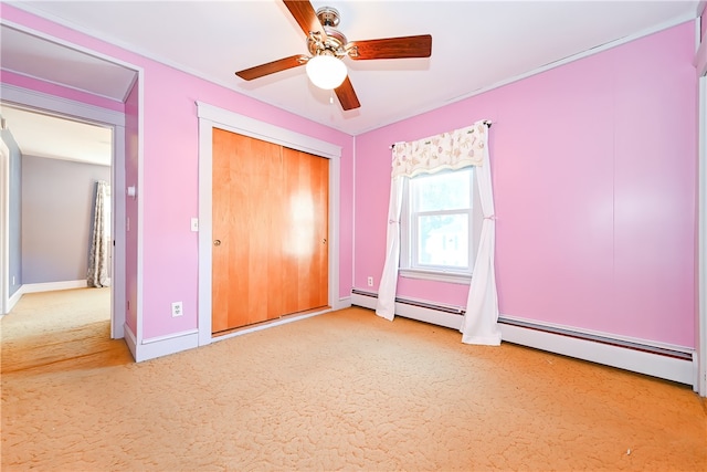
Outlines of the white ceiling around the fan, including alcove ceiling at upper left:
M 431 34 L 430 59 L 346 60 L 361 107 L 344 112 L 304 67 L 251 82 L 235 71 L 307 53 L 278 0 L 9 1 L 239 93 L 357 135 L 527 76 L 614 41 L 694 19 L 698 0 L 313 1 L 349 41 Z M 131 71 L 2 29 L 2 69 L 122 99 Z M 62 56 L 66 55 L 68 56 Z M 66 64 L 71 61 L 71 65 Z M 99 74 L 99 75 L 97 75 Z

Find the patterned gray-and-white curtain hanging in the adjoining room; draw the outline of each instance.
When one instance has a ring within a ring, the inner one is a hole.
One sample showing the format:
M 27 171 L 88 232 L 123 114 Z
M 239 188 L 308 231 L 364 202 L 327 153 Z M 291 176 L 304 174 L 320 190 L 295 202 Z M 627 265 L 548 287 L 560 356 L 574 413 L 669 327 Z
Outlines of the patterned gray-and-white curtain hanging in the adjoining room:
M 98 180 L 94 200 L 93 231 L 91 234 L 91 254 L 88 256 L 88 286 L 102 287 L 109 285 L 108 255 L 109 241 L 106 228 L 106 201 L 108 199 L 108 182 Z

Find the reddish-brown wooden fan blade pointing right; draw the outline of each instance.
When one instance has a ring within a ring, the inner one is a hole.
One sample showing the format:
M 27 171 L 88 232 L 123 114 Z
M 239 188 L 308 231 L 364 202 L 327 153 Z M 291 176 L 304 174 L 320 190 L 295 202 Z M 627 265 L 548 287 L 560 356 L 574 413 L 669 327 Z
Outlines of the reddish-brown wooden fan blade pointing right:
M 432 35 L 384 38 L 381 40 L 351 41 L 346 45 L 354 60 L 430 57 Z M 358 54 L 356 51 L 358 50 Z

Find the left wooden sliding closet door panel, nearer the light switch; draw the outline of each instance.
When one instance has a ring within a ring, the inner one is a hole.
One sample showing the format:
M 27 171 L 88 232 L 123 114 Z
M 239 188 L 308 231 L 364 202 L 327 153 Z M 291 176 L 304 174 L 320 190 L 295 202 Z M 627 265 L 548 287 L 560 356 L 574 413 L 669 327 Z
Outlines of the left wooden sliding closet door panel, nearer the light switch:
M 283 313 L 282 148 L 213 129 L 212 332 Z

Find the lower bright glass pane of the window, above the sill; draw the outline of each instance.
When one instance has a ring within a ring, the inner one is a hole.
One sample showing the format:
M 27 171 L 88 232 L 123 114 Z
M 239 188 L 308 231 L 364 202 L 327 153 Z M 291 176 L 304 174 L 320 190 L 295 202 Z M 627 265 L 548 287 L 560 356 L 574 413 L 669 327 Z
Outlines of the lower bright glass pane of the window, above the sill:
M 468 214 L 418 218 L 416 265 L 468 266 Z

